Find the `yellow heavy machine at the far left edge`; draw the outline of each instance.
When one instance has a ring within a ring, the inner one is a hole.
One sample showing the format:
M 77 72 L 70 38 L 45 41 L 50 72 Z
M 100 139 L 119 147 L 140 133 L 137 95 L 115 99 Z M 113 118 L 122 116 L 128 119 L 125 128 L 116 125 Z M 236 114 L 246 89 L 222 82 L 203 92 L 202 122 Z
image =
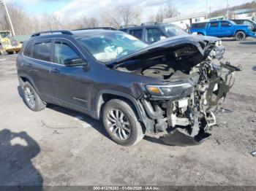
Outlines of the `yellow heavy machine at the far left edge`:
M 13 39 L 10 31 L 0 31 L 0 55 L 19 52 L 22 44 Z

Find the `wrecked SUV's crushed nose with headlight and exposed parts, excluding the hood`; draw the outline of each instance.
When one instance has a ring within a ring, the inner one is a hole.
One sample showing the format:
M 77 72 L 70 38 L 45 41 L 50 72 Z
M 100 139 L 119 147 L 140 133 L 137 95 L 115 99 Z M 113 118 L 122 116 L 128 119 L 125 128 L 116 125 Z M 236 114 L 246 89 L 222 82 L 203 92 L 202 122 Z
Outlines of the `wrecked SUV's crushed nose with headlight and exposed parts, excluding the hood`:
M 165 144 L 186 146 L 211 136 L 206 129 L 217 124 L 214 112 L 233 85 L 233 71 L 233 67 L 221 62 L 217 66 L 207 58 L 187 79 L 146 86 L 141 103 L 154 120 L 154 132 L 162 133 L 159 139 Z

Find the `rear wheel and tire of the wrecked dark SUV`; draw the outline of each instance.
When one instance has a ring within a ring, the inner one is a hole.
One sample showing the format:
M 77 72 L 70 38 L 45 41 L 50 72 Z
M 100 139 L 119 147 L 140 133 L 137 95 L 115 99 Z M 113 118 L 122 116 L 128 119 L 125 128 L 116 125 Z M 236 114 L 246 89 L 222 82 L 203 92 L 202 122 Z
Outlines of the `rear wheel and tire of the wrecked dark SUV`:
M 37 91 L 34 90 L 34 87 L 29 83 L 25 82 L 23 84 L 23 95 L 26 105 L 34 112 L 39 112 L 42 109 L 45 109 L 46 104 L 39 98 Z

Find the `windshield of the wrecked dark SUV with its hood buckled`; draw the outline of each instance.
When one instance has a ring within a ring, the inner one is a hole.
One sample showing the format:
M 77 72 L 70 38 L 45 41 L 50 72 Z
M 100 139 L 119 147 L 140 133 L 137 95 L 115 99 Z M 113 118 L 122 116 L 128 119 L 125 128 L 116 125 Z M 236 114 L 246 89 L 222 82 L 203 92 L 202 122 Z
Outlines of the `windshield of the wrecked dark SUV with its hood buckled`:
M 122 32 L 108 32 L 78 39 L 97 61 L 108 62 L 148 46 L 134 36 Z

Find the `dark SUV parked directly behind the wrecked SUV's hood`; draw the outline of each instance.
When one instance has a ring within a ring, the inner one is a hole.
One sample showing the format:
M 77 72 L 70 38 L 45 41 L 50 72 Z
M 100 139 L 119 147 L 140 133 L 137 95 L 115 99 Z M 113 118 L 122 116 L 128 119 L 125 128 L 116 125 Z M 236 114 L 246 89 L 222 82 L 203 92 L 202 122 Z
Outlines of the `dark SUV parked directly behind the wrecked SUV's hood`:
M 131 34 L 146 44 L 152 44 L 168 37 L 187 35 L 187 32 L 173 24 L 128 26 L 121 28 L 120 31 Z

